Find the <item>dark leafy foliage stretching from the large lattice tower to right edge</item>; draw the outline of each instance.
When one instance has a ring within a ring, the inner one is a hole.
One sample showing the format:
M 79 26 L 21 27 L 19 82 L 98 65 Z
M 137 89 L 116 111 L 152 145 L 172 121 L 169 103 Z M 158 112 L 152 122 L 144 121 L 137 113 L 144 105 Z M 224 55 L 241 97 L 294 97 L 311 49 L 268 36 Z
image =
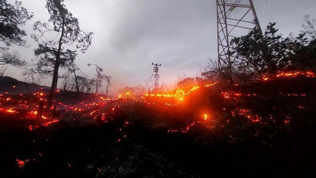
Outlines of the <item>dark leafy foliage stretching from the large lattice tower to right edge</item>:
M 254 29 L 246 36 L 232 39 L 234 54 L 239 58 L 235 67 L 254 78 L 284 70 L 315 70 L 316 40 L 308 40 L 307 32 L 296 38 L 282 38 L 275 25 L 269 23 L 262 35 Z M 309 35 L 312 36 L 311 31 Z

